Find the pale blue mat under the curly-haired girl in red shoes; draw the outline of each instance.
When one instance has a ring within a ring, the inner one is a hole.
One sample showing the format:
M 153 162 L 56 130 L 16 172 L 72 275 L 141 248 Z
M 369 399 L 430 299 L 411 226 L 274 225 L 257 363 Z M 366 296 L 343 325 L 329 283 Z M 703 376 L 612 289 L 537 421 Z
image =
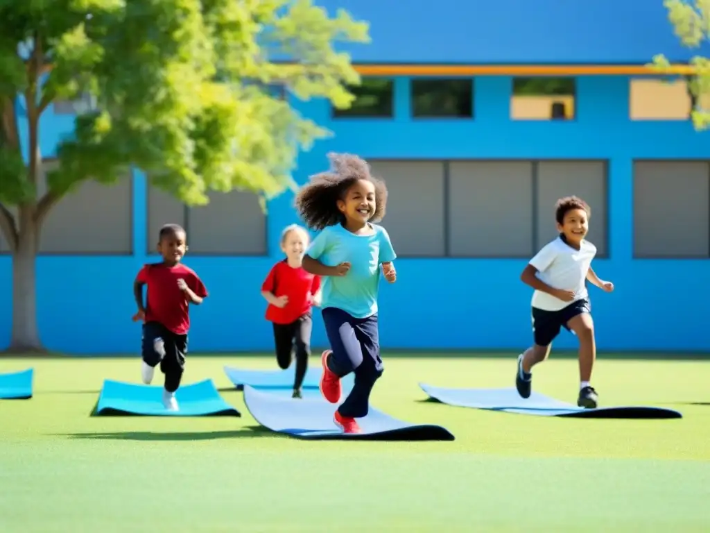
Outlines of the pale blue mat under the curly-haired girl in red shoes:
M 432 424 L 408 424 L 370 407 L 358 423 L 361 434 L 344 434 L 334 424 L 337 405 L 329 404 L 319 391 L 304 391 L 302 399 L 284 392 L 244 387 L 244 403 L 251 416 L 267 429 L 297 438 L 358 439 L 369 441 L 453 441 L 447 429 Z

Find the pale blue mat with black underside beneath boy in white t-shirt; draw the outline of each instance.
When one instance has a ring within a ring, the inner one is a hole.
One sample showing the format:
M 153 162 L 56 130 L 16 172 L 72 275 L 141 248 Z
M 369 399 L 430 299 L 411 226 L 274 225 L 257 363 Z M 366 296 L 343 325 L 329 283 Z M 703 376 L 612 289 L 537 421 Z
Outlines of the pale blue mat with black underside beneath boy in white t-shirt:
M 661 407 L 598 407 L 584 409 L 561 402 L 539 392 L 521 398 L 514 388 L 509 389 L 446 389 L 422 384 L 419 386 L 430 398 L 455 407 L 472 407 L 506 413 L 535 416 L 572 416 L 589 419 L 679 419 L 682 414 Z

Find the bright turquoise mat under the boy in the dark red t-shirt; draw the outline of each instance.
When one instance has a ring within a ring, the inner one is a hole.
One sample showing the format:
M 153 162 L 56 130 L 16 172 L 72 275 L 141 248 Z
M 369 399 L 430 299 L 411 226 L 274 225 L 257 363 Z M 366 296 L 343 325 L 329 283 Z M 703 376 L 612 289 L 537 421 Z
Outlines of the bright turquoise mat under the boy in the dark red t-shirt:
M 106 379 L 94 416 L 241 416 L 227 404 L 212 379 L 182 385 L 175 392 L 178 411 L 163 406 L 163 387 Z

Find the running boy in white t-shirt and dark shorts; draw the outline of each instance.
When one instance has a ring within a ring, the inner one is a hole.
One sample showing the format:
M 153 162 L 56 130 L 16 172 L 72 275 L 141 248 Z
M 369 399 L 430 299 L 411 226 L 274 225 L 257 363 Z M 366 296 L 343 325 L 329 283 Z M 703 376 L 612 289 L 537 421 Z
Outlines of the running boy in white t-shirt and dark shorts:
M 520 279 L 535 289 L 532 294 L 532 332 L 535 344 L 518 356 L 515 387 L 523 398 L 530 397 L 532 367 L 547 359 L 552 340 L 561 328 L 579 338 L 579 397 L 577 405 L 597 407 L 599 397 L 589 384 L 596 359 L 594 322 L 585 281 L 606 292 L 614 290 L 591 268 L 596 247 L 584 237 L 589 231 L 589 206 L 577 196 L 557 200 L 555 219 L 559 237 L 543 247 L 525 266 Z

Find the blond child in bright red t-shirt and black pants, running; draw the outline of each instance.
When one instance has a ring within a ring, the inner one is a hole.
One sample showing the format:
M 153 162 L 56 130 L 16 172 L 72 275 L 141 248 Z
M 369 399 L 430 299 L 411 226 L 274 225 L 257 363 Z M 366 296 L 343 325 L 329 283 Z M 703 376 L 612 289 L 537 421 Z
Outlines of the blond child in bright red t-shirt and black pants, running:
M 261 296 L 268 301 L 266 320 L 273 323 L 276 361 L 283 370 L 291 365 L 295 344 L 294 398 L 302 397 L 301 386 L 308 368 L 313 329 L 311 309 L 313 304 L 319 304 L 320 277 L 302 267 L 308 240 L 304 228 L 295 224 L 286 227 L 281 233 L 281 250 L 286 259 L 273 266 L 261 285 Z

